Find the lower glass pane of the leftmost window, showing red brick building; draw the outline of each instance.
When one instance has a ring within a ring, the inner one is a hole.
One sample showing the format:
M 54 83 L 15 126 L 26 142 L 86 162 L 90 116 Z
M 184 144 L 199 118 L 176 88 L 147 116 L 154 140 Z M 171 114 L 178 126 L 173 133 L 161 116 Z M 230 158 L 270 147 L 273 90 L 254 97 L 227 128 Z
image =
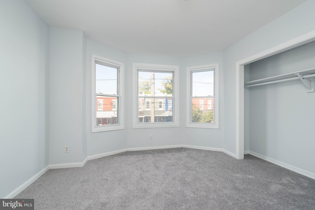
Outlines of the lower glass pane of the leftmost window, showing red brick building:
M 101 106 L 100 106 L 101 104 Z M 118 97 L 96 96 L 96 126 L 118 124 Z

